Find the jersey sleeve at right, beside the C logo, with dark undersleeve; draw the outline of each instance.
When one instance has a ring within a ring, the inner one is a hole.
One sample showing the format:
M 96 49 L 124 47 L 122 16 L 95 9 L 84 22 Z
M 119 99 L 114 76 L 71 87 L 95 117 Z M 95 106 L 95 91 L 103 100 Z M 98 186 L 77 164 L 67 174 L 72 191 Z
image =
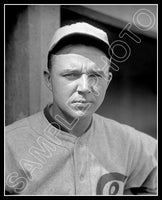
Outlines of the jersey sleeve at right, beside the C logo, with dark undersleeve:
M 125 185 L 125 194 L 157 194 L 157 140 L 133 129 L 134 151 L 131 169 Z

